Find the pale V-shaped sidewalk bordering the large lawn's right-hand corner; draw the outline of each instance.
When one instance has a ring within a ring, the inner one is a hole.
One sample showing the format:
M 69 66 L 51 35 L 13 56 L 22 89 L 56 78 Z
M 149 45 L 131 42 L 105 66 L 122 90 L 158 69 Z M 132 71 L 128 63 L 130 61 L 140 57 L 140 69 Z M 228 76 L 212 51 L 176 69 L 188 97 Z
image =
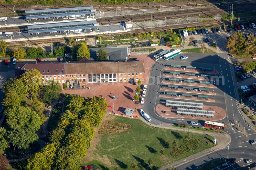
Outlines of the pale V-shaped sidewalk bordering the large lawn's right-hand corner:
M 146 122 L 146 124 L 148 125 L 151 125 L 151 126 L 154 126 L 155 127 L 155 124 L 152 124 L 150 122 L 147 122 L 143 117 L 140 118 L 143 122 Z M 178 127 L 172 127 L 171 125 L 168 125 L 168 124 L 160 124 L 158 125 L 158 128 L 165 128 L 165 129 L 172 129 L 172 130 L 179 130 L 179 131 L 186 131 L 187 132 L 187 128 L 178 128 Z M 209 135 L 209 136 L 212 136 L 213 135 L 213 132 L 207 132 L 207 131 L 200 131 L 200 130 L 194 130 L 194 129 L 189 129 L 189 132 L 191 133 L 199 133 L 199 134 L 205 134 L 205 135 Z M 187 163 L 189 161 L 193 161 L 195 159 L 198 159 L 202 156 L 205 156 L 207 154 L 210 154 L 212 152 L 216 152 L 218 151 L 219 149 L 222 149 L 224 148 L 227 143 L 230 143 L 231 142 L 231 137 L 228 135 L 225 136 L 223 135 L 222 133 L 214 133 L 215 136 L 217 138 L 217 145 L 212 147 L 212 148 L 209 148 L 209 149 L 206 149 L 200 153 L 196 153 L 194 155 L 191 155 L 189 157 L 186 157 L 184 159 L 181 159 L 179 161 L 176 161 L 176 162 L 173 162 L 171 164 L 168 164 L 162 168 L 159 168 L 160 170 L 165 170 L 166 168 L 169 168 L 169 167 L 176 167 L 176 166 L 179 166 L 179 165 L 182 165 L 184 163 Z

